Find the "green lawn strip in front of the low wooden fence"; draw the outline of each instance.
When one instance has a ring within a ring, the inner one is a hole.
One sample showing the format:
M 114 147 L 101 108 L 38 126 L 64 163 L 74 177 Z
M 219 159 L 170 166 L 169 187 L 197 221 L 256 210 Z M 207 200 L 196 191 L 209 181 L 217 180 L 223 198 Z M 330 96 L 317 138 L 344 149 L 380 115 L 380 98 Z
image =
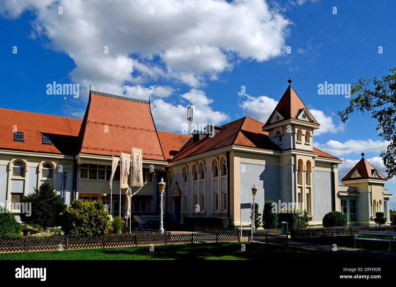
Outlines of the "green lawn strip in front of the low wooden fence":
M 260 259 L 269 261 L 294 262 L 298 260 L 318 262 L 322 260 L 356 260 L 352 255 L 337 252 L 305 250 L 262 243 L 246 244 L 241 251 L 240 242 L 222 242 L 210 244 L 157 245 L 154 251 L 150 246 L 84 249 L 74 251 L 50 251 L 37 253 L 0 254 L 0 260 L 139 260 L 139 259 Z

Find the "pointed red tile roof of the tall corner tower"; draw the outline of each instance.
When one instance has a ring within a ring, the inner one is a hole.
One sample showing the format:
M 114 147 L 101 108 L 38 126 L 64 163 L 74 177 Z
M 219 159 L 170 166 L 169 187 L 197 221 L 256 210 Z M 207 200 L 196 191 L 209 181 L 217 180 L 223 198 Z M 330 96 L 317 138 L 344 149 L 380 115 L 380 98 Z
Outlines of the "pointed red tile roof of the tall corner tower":
M 310 111 L 307 109 L 303 101 L 294 91 L 293 87 L 289 85 L 289 87 L 287 87 L 285 93 L 283 94 L 282 98 L 276 105 L 274 111 L 272 111 L 270 117 L 265 123 L 265 126 L 270 125 L 270 121 L 276 111 L 278 111 L 282 115 L 282 117 L 284 117 L 284 120 L 288 120 L 288 119 L 297 119 L 296 116 L 299 113 L 299 111 L 301 111 L 302 109 L 305 109 L 307 111 L 307 113 L 311 117 L 312 121 L 314 121 L 314 123 L 316 124 L 318 123 L 316 119 L 312 116 Z

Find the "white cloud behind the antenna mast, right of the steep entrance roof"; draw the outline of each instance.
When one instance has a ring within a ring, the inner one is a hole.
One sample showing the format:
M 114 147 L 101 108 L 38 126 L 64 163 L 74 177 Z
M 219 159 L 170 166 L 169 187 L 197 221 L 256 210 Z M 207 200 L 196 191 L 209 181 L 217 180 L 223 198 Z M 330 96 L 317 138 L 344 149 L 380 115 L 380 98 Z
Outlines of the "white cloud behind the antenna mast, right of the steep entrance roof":
M 230 117 L 222 111 L 214 111 L 210 104 L 213 99 L 208 98 L 204 91 L 191 89 L 182 94 L 185 104 L 165 102 L 163 99 L 154 99 L 151 102 L 151 111 L 158 130 L 168 130 L 181 133 L 183 124 L 187 123 L 187 106 L 190 101 L 194 103 L 193 124 L 203 127 L 211 123 L 221 125 L 230 120 Z

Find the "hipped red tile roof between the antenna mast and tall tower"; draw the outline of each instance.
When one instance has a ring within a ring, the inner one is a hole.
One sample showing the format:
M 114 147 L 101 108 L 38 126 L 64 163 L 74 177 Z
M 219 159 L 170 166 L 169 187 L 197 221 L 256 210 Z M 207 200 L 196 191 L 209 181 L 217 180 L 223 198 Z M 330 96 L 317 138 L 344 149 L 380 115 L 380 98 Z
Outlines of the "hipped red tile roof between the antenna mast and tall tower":
M 262 126 L 263 123 L 251 117 L 237 119 L 236 121 L 221 126 L 222 129 L 216 132 L 213 137 L 206 137 L 195 143 L 193 138 L 189 138 L 185 145 L 170 161 L 174 162 L 230 145 L 242 145 L 281 151 L 282 149 L 268 138 L 268 132 L 262 131 Z

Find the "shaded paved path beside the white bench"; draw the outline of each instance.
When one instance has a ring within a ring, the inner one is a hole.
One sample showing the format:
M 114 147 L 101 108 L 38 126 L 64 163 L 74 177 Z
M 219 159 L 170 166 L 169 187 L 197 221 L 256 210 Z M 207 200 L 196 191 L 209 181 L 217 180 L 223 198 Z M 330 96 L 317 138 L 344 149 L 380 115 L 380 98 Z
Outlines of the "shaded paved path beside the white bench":
M 332 245 L 297 242 L 297 241 L 290 241 L 290 240 L 288 242 L 288 245 L 292 246 L 292 247 L 303 248 L 303 249 L 334 252 Z M 388 251 L 388 250 L 369 250 L 369 249 L 337 245 L 337 252 L 342 252 L 342 253 L 351 254 L 351 255 L 364 255 L 364 256 L 371 256 L 371 257 L 377 257 L 377 258 L 383 258 L 383 259 L 396 260 L 396 252 Z

